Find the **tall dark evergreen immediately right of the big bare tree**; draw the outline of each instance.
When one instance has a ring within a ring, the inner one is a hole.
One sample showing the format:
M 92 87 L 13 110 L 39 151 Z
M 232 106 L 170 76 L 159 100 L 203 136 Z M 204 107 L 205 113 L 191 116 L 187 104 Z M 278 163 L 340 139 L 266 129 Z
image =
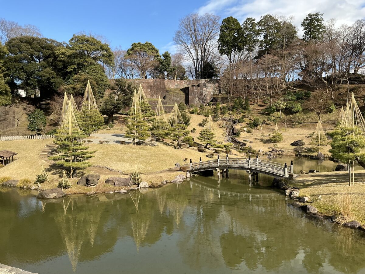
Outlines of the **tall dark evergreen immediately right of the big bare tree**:
M 235 54 L 239 49 L 238 34 L 240 31 L 241 25 L 236 18 L 229 16 L 222 20 L 218 38 L 218 51 L 221 55 L 227 56 L 230 71 L 235 60 Z

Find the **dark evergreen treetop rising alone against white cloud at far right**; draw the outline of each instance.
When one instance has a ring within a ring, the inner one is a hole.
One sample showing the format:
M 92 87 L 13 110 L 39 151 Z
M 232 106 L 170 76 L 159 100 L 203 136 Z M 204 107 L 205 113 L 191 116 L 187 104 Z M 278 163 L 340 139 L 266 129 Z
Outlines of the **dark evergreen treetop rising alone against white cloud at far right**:
M 323 24 L 323 13 L 315 12 L 310 13 L 303 19 L 301 26 L 303 27 L 303 40 L 309 41 L 321 41 L 323 39 L 326 27 Z

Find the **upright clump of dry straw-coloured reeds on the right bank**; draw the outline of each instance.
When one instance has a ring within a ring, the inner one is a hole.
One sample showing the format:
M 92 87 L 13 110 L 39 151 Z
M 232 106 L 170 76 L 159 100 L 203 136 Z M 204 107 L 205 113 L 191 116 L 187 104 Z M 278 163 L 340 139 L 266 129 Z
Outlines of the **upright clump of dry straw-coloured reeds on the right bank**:
M 345 222 L 351 222 L 355 220 L 355 214 L 352 210 L 354 199 L 356 195 L 352 193 L 339 193 L 334 197 L 334 205 L 336 207 L 336 213 L 338 217 L 335 222 L 341 225 Z

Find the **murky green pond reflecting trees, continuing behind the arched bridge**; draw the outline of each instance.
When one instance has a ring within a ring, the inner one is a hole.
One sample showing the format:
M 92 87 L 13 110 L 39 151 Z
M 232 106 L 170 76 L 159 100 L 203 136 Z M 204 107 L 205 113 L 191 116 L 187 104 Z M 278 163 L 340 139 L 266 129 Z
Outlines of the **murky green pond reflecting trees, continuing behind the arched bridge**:
M 51 201 L 1 187 L 0 262 L 40 274 L 365 273 L 363 232 L 309 218 L 271 182 L 232 170 Z

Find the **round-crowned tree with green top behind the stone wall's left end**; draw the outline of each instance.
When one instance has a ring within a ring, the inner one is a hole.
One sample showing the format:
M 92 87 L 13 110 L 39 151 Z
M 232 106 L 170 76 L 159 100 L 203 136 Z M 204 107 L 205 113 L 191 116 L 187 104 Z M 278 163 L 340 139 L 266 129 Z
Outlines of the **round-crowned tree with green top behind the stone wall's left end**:
M 150 42 L 132 43 L 124 58 L 134 64 L 141 79 L 147 79 L 147 73 L 159 65 L 161 59 L 160 52 Z

